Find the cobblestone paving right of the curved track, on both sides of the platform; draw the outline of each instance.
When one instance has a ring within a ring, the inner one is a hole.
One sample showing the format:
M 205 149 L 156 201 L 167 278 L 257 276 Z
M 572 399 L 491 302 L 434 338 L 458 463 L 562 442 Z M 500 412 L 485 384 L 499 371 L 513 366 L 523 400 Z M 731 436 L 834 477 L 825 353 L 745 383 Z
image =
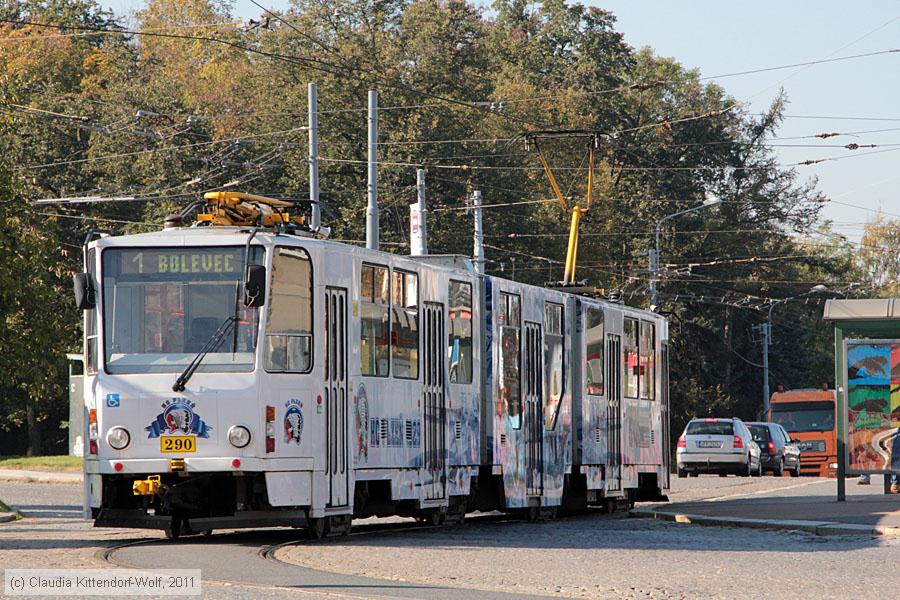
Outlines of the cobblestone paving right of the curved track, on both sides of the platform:
M 831 493 L 834 481 L 675 481 L 675 502 Z M 576 598 L 896 598 L 896 538 L 590 515 L 292 546 L 279 558 L 400 581 Z

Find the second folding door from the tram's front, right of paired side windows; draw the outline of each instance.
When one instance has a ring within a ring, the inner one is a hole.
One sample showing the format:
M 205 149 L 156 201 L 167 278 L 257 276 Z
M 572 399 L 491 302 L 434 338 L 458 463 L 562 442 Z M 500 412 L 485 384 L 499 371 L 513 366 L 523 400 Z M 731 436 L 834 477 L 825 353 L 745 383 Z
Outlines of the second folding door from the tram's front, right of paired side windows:
M 446 343 L 444 305 L 425 302 L 422 308 L 425 408 L 425 499 L 443 498 L 446 464 Z

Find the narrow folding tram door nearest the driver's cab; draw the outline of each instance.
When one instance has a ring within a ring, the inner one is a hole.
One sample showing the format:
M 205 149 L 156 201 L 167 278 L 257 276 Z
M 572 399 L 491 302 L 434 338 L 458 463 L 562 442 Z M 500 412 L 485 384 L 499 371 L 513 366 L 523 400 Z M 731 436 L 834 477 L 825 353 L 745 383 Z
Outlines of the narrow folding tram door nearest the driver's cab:
M 328 477 L 329 507 L 346 506 L 347 465 L 347 290 L 325 290 L 325 473 Z

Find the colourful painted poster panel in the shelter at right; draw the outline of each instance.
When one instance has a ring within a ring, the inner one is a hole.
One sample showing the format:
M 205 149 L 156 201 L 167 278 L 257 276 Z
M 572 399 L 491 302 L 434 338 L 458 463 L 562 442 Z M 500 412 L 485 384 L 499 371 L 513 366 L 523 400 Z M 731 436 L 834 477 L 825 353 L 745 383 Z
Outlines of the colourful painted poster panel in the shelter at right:
M 898 433 L 900 433 L 900 341 L 848 342 L 849 470 L 900 470 Z

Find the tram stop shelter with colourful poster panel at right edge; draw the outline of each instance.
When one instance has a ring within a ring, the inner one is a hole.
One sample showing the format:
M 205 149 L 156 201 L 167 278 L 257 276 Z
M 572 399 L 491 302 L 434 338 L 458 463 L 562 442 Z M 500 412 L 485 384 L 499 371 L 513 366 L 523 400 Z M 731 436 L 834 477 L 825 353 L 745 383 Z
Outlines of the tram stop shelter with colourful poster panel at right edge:
M 834 323 L 837 499 L 847 475 L 900 473 L 900 298 L 828 300 Z

